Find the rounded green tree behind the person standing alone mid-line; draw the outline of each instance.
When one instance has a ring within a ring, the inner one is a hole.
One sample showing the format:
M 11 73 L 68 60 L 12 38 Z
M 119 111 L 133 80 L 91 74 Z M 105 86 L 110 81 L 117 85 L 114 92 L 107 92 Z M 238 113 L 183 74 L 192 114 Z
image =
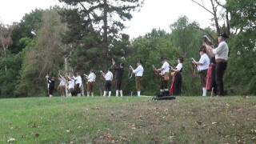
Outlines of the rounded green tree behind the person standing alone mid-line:
M 126 59 L 126 67 L 129 65 L 136 67 L 136 62 L 141 60 L 144 67 L 142 94 L 156 94 L 160 81 L 159 78 L 154 78 L 152 65 L 161 67 L 161 58 L 166 57 L 173 66 L 176 66 L 178 55 L 178 50 L 170 42 L 169 34 L 164 30 L 152 30 L 144 37 L 134 39 L 132 53 Z M 128 79 L 125 74 L 124 82 L 126 82 L 126 86 L 124 86 L 126 94 L 135 91 L 134 78 Z

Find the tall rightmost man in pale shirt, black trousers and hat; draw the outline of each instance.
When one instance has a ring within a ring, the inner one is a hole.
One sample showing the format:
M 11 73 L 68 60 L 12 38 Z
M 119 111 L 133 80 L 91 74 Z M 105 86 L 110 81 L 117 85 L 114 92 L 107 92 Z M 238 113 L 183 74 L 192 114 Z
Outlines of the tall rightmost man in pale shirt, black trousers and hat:
M 207 47 L 207 53 L 215 56 L 215 73 L 216 73 L 216 83 L 219 96 L 224 96 L 224 84 L 223 76 L 227 66 L 227 59 L 229 55 L 229 47 L 227 46 L 226 39 L 229 38 L 225 33 L 219 35 L 218 37 L 218 47 L 213 49 L 211 46 L 205 45 Z

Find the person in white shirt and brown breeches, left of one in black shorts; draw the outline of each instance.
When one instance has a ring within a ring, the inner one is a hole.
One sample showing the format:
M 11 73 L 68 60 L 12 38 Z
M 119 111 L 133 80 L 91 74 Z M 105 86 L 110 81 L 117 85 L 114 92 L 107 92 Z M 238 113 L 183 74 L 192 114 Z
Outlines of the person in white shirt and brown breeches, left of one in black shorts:
M 90 74 L 84 74 L 87 79 L 87 97 L 91 96 L 94 97 L 94 82 L 96 80 L 96 75 L 94 74 L 94 70 L 90 70 Z

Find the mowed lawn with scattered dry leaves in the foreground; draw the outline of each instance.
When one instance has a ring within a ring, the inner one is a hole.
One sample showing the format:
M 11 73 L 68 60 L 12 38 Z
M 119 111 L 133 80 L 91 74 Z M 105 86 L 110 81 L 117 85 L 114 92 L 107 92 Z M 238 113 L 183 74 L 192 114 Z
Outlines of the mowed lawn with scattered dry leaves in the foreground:
M 8 140 L 256 143 L 256 97 L 0 99 L 0 143 Z

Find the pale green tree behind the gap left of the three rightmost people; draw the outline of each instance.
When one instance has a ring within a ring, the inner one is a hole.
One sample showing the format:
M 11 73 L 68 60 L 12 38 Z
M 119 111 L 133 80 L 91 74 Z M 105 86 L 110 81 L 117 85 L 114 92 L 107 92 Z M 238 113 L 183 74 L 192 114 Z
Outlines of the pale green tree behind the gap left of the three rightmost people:
M 202 36 L 207 33 L 213 35 L 210 29 L 194 29 L 194 26 L 200 27 L 197 22 L 189 22 L 189 18 L 182 16 L 170 25 L 170 39 L 181 56 L 184 58 L 182 72 L 182 94 L 193 95 L 199 93 L 198 77 L 194 76 L 191 66 L 191 58 L 199 58 L 198 50 L 202 45 Z

